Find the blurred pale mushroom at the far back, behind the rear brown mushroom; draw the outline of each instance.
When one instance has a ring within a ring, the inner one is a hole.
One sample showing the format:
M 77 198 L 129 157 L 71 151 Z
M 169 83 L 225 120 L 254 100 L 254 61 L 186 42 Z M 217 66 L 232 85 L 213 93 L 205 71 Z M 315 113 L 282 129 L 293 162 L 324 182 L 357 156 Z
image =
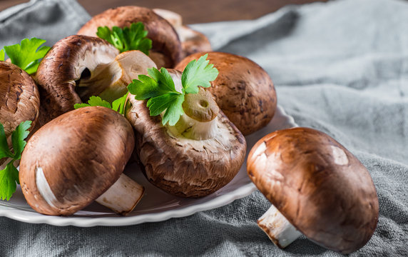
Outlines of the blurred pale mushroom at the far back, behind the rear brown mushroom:
M 183 49 L 183 57 L 199 52 L 213 51 L 210 41 L 204 34 L 190 29 L 188 26 L 183 26 L 183 18 L 180 14 L 165 9 L 153 9 L 153 11 L 166 19 L 177 32 Z

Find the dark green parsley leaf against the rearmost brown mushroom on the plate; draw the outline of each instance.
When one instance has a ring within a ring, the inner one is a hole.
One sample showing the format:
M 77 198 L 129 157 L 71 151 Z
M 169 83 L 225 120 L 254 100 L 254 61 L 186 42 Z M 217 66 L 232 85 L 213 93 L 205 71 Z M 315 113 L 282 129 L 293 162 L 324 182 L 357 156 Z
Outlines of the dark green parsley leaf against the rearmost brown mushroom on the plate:
M 139 50 L 148 55 L 152 48 L 151 39 L 147 39 L 148 31 L 143 23 L 133 23 L 123 29 L 113 26 L 112 30 L 107 26 L 98 27 L 96 35 L 113 44 L 121 53 L 130 50 Z

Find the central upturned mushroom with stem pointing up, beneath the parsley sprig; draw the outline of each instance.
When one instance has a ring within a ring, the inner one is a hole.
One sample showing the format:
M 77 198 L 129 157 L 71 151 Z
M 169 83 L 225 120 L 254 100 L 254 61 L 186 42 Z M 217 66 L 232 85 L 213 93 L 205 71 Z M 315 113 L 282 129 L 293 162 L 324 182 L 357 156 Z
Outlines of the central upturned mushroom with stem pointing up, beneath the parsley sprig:
M 181 72 L 168 69 L 181 91 Z M 150 116 L 146 101 L 129 94 L 126 118 L 136 130 L 142 170 L 158 188 L 175 196 L 198 198 L 230 182 L 245 158 L 243 135 L 218 108 L 209 91 L 186 94 L 185 114 L 175 126 Z

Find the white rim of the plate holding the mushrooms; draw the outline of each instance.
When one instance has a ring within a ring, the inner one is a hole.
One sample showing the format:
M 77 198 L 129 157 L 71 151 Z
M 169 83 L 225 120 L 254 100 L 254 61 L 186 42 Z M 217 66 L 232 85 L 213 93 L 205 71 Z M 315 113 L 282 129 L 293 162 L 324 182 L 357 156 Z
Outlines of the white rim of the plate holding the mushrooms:
M 285 109 L 277 104 L 277 111 L 280 111 L 282 116 L 287 118 L 287 124 L 290 127 L 298 126 L 295 119 L 286 113 Z M 11 206 L 0 205 L 0 216 L 11 218 L 15 221 L 24 223 L 46 223 L 52 226 L 78 226 L 78 227 L 93 227 L 93 226 L 132 226 L 147 222 L 167 221 L 170 218 L 181 218 L 191 216 L 200 211 L 208 211 L 213 208 L 226 206 L 235 200 L 249 196 L 256 191 L 256 186 L 249 180 L 249 183 L 235 188 L 223 195 L 213 198 L 203 203 L 192 204 L 189 206 L 174 208 L 172 210 L 161 211 L 158 213 L 143 213 L 136 216 L 110 216 L 110 217 L 78 217 L 78 216 L 47 216 L 41 213 L 31 212 L 33 216 L 27 217 L 27 211 L 14 208 Z

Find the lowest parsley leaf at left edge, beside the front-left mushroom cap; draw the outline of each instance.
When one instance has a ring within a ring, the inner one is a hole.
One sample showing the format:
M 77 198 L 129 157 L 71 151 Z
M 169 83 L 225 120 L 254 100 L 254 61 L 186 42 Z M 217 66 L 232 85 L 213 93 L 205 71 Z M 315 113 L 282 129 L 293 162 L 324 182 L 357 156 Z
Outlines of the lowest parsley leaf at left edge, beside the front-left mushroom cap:
M 0 199 L 9 201 L 16 191 L 19 181 L 19 171 L 14 167 L 15 160 L 10 161 L 6 168 L 0 171 Z

